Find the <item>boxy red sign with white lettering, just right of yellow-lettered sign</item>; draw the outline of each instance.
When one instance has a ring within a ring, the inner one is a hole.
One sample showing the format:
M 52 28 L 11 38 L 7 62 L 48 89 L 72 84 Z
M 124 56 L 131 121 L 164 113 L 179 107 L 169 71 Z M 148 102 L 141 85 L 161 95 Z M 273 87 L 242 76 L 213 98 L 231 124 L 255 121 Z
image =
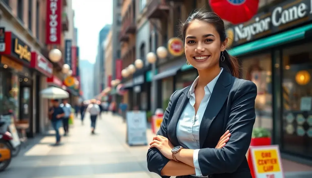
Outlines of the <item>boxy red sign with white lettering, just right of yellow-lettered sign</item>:
M 45 57 L 40 55 L 37 51 L 32 51 L 32 60 L 30 66 L 47 77 L 52 77 L 53 74 L 53 65 Z

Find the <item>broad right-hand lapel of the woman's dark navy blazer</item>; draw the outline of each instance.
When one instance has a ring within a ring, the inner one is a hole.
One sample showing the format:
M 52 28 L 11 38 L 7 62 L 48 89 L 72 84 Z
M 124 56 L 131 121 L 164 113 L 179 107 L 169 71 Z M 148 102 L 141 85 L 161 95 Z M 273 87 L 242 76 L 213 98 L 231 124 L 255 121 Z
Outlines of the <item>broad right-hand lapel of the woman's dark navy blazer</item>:
M 232 84 L 231 78 L 232 75 L 223 70 L 217 80 L 216 85 L 213 88 L 211 97 L 209 99 L 199 128 L 200 148 L 202 148 L 206 140 L 207 133 L 213 119 L 216 118 L 217 114 L 221 110 L 225 100 L 228 97 Z

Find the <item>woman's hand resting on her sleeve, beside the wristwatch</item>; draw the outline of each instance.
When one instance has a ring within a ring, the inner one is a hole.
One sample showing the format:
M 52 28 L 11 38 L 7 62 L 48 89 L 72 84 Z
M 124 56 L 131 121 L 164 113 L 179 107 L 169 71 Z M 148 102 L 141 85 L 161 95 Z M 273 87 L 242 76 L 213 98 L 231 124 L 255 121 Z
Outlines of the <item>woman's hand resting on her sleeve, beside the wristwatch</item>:
M 157 148 L 161 154 L 163 154 L 163 156 L 165 156 L 166 158 L 172 160 L 172 148 L 173 145 L 172 143 L 168 140 L 168 138 L 163 137 L 161 135 L 157 135 L 153 138 L 153 142 L 151 142 L 149 148 Z

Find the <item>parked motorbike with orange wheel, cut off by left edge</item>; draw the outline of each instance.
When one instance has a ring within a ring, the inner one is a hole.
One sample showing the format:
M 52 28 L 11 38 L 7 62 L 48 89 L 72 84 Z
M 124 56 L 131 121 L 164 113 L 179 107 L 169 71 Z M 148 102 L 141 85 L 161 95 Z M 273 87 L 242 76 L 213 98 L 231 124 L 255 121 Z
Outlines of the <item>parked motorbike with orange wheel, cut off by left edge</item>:
M 0 127 L 4 124 L 5 122 L 0 122 Z M 12 159 L 10 140 L 12 139 L 10 132 L 0 132 L 0 171 L 3 171 L 10 165 Z

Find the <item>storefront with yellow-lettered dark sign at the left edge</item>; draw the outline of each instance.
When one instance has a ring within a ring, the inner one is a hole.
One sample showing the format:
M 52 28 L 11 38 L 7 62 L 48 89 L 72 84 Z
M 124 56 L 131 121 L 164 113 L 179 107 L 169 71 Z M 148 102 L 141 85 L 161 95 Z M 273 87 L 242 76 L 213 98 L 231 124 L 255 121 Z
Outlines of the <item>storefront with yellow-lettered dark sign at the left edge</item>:
M 27 136 L 36 131 L 36 77 L 29 69 L 29 45 L 11 31 L 5 32 L 5 50 L 0 53 L 2 65 L 2 102 L 13 111 L 17 124 L 28 124 Z M 18 126 L 17 126 L 18 127 Z

